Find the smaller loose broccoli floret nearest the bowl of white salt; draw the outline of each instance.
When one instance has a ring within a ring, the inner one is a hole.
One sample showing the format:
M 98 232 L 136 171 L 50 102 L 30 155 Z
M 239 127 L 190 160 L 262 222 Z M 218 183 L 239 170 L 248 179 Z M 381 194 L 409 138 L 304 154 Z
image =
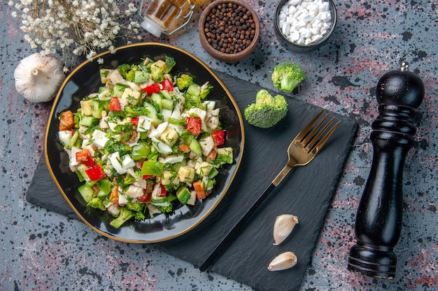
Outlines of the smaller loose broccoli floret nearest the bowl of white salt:
M 306 73 L 302 67 L 290 61 L 276 65 L 271 75 L 274 87 L 285 92 L 292 92 L 305 78 Z

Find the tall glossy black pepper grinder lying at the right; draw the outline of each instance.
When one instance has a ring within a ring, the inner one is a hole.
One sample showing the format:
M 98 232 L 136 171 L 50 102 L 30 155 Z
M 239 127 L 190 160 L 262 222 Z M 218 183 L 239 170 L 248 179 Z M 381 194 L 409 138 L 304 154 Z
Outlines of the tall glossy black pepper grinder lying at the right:
M 395 278 L 403 212 L 403 167 L 414 144 L 416 109 L 424 84 L 407 70 L 384 74 L 376 88 L 379 116 L 372 124 L 372 167 L 355 221 L 357 244 L 350 250 L 348 269 L 375 278 Z

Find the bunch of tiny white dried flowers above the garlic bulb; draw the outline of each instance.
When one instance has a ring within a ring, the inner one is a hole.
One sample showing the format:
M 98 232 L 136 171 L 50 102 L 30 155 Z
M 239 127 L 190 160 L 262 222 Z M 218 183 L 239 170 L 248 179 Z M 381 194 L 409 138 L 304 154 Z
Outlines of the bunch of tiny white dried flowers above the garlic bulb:
M 20 17 L 31 48 L 43 54 L 59 50 L 66 66 L 81 55 L 92 59 L 99 50 L 115 52 L 118 33 L 123 29 L 125 36 L 138 37 L 140 27 L 130 18 L 137 10 L 134 3 L 123 10 L 111 0 L 9 0 L 8 6 L 15 8 L 13 17 Z

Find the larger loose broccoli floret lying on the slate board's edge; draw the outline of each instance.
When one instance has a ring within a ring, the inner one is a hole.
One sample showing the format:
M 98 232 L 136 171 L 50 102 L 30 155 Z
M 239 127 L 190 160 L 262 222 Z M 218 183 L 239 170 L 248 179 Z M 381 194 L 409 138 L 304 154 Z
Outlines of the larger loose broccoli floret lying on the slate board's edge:
M 248 105 L 243 112 L 248 124 L 269 128 L 278 123 L 288 113 L 288 103 L 281 95 L 271 96 L 267 90 L 260 90 L 255 103 Z

